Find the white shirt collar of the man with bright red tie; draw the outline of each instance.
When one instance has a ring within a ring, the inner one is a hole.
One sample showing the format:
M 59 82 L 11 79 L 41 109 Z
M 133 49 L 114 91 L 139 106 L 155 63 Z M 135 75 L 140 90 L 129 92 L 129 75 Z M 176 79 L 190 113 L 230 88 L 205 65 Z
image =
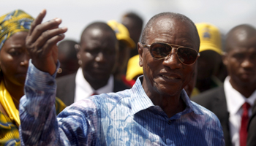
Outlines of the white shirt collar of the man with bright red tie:
M 231 115 L 236 114 L 244 102 L 248 102 L 252 107 L 256 99 L 256 91 L 252 93 L 249 98 L 244 97 L 241 93 L 236 91 L 230 84 L 230 76 L 227 76 L 224 81 L 224 91 L 227 99 L 227 111 L 230 112 Z

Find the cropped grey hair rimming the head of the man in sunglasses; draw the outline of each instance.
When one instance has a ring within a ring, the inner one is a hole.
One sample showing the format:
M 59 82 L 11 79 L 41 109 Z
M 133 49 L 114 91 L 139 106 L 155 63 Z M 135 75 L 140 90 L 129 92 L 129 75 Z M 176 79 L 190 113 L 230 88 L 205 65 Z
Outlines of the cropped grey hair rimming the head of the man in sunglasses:
M 178 20 L 184 23 L 189 23 L 189 25 L 192 26 L 192 29 L 195 31 L 195 37 L 196 37 L 196 44 L 198 44 L 198 47 L 200 45 L 200 39 L 197 33 L 197 28 L 195 26 L 195 23 L 192 22 L 189 18 L 187 18 L 185 15 L 181 15 L 178 13 L 174 12 L 162 12 L 158 15 L 154 15 L 153 18 L 148 20 L 148 23 L 146 24 L 145 28 L 143 29 L 142 37 L 141 37 L 141 42 L 143 44 L 146 43 L 146 38 L 148 37 L 149 31 L 151 31 L 151 28 L 153 27 L 154 23 L 156 23 L 159 20 L 162 19 L 170 19 L 170 20 Z

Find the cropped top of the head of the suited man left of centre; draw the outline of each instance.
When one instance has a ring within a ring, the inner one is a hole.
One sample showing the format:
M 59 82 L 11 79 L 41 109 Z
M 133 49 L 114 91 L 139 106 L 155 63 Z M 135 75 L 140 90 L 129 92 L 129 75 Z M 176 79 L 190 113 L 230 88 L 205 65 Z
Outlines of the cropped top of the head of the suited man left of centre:
M 81 34 L 81 37 L 80 37 L 80 44 L 91 35 L 97 35 L 100 33 L 110 34 L 111 37 L 116 38 L 115 32 L 113 31 L 112 28 L 110 28 L 110 26 L 108 26 L 107 23 L 95 22 L 95 23 L 91 23 L 89 26 L 87 26 L 83 30 L 83 33 Z

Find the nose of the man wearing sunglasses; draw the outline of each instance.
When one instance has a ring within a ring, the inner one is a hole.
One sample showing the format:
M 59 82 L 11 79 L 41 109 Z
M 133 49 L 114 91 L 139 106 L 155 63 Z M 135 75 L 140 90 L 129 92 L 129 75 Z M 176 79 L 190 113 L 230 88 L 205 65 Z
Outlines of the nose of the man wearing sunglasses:
M 181 61 L 178 60 L 178 56 L 176 55 L 176 48 L 173 47 L 170 54 L 167 55 L 162 64 L 164 66 L 170 67 L 170 69 L 177 69 L 182 67 Z

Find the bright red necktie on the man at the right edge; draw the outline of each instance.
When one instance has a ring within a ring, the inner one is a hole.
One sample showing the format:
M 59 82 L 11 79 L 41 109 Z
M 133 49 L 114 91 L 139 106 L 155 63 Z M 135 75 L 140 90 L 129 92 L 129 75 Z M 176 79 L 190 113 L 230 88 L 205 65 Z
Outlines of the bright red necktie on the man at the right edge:
M 241 128 L 240 128 L 240 146 L 246 146 L 246 139 L 247 139 L 247 124 L 249 121 L 249 115 L 248 115 L 248 111 L 250 108 L 250 104 L 248 104 L 247 102 L 245 102 L 242 105 L 243 108 L 243 115 L 241 117 Z

